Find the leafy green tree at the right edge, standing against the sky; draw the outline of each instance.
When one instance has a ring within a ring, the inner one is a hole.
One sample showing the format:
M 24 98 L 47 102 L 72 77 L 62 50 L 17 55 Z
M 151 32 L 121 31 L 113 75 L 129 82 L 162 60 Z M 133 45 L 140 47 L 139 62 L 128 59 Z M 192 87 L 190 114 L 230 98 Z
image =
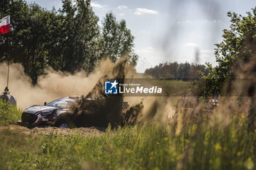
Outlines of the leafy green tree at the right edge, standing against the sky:
M 247 16 L 227 12 L 230 17 L 230 30 L 223 31 L 223 41 L 217 44 L 215 56 L 218 65 L 207 63 L 209 74 L 203 77 L 200 96 L 222 93 L 225 82 L 234 78 L 234 73 L 241 70 L 239 63 L 249 63 L 255 55 L 256 46 L 256 7 Z

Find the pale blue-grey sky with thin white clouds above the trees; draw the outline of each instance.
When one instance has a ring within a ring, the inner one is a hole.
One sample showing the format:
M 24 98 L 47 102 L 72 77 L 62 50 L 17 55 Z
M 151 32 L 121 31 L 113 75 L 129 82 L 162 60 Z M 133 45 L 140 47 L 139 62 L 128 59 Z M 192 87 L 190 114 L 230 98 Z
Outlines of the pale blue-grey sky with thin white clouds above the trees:
M 47 9 L 61 8 L 61 0 L 26 0 Z M 227 12 L 246 15 L 255 0 L 97 0 L 91 1 L 101 25 L 112 11 L 126 20 L 135 36 L 139 55 L 137 72 L 159 63 L 212 63 L 214 44 L 222 41 L 222 30 L 230 26 Z M 197 56 L 197 57 L 196 57 Z

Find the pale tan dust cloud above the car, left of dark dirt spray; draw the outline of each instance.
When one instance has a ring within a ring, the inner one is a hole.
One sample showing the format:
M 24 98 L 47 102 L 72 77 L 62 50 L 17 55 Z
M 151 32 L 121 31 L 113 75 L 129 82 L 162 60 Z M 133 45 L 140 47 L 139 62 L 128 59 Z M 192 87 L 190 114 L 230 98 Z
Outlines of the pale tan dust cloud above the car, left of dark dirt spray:
M 32 85 L 31 79 L 24 73 L 20 63 L 10 64 L 10 94 L 15 96 L 18 107 L 25 109 L 32 104 L 43 104 L 57 98 L 87 95 L 97 84 L 102 74 L 110 69 L 109 59 L 101 61 L 95 72 L 86 76 L 86 72 L 56 72 L 46 69 L 45 75 L 39 77 L 37 85 Z M 0 63 L 0 90 L 4 92 L 7 85 L 7 63 Z

